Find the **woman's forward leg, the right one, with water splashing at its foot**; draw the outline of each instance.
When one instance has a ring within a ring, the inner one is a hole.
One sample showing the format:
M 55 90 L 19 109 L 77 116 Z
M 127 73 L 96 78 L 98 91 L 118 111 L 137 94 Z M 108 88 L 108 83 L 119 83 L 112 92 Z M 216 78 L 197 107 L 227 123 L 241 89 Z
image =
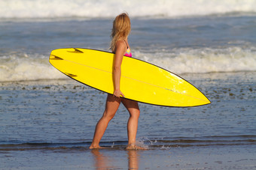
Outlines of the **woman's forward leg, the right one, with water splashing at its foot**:
M 123 105 L 130 113 L 130 118 L 127 122 L 127 135 L 128 135 L 128 147 L 127 149 L 135 149 L 136 134 L 139 121 L 139 105 L 138 102 L 133 100 L 122 99 Z

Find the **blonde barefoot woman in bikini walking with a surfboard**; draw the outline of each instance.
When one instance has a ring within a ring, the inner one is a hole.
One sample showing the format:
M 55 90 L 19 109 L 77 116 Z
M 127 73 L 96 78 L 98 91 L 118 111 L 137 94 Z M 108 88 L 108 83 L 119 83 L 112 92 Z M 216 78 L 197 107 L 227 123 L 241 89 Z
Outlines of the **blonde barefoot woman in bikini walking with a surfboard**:
M 123 105 L 130 113 L 130 118 L 127 123 L 128 145 L 126 149 L 142 149 L 135 145 L 139 120 L 138 102 L 122 98 L 124 97 L 124 94 L 120 91 L 120 76 L 123 55 L 132 57 L 132 53 L 130 52 L 130 46 L 127 39 L 129 34 L 130 18 L 127 13 L 121 13 L 114 19 L 111 33 L 112 40 L 110 48 L 112 52 L 115 53 L 113 67 L 114 94 L 108 94 L 105 104 L 105 112 L 103 113 L 102 118 L 100 118 L 98 124 L 96 125 L 93 142 L 90 145 L 90 149 L 102 148 L 99 146 L 99 141 L 102 139 L 102 136 L 105 133 L 106 128 L 108 127 L 109 121 L 114 118 L 114 115 L 117 112 L 120 103 L 123 103 Z

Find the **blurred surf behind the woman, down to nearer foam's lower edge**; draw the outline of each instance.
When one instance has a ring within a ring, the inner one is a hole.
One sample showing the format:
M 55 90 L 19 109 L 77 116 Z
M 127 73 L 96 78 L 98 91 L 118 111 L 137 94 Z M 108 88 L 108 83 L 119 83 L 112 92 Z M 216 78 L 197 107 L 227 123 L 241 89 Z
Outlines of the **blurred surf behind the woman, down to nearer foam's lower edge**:
M 175 73 L 256 70 L 255 1 L 10 0 L 0 7 L 1 82 L 62 79 L 49 52 L 108 50 L 112 20 L 123 11 L 136 58 Z

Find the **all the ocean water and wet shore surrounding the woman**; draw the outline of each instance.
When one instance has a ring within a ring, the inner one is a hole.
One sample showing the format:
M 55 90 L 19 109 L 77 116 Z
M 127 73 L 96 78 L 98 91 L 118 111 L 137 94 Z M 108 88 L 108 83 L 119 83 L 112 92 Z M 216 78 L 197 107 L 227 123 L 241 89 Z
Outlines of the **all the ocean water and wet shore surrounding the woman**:
M 64 3 L 63 3 L 64 2 Z M 56 6 L 58 6 L 56 8 Z M 256 169 L 256 1 L 0 1 L 0 169 Z M 84 10 L 89 9 L 89 10 Z M 106 94 L 49 64 L 53 49 L 109 51 L 130 13 L 134 58 L 177 73 L 212 104 L 123 106 L 90 151 Z

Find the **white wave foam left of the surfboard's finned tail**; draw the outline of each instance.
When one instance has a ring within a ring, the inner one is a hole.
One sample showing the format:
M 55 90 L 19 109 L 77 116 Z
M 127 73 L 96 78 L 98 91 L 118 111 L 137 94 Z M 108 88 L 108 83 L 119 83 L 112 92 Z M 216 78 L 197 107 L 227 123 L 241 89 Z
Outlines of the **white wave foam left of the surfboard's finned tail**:
M 66 79 L 43 55 L 11 55 L 0 58 L 0 82 Z

